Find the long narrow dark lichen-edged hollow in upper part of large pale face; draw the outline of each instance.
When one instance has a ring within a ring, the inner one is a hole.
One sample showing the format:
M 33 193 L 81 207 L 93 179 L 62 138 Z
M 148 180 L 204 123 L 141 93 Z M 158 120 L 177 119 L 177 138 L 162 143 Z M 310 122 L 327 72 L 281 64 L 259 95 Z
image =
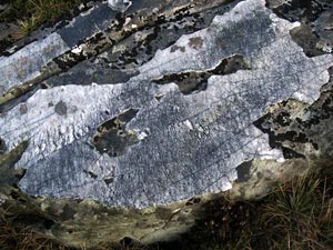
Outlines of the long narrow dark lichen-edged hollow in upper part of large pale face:
M 223 59 L 214 69 L 205 71 L 189 71 L 182 73 L 165 74 L 152 82 L 158 84 L 168 84 L 174 82 L 183 94 L 203 91 L 206 89 L 208 79 L 213 76 L 224 76 L 234 73 L 238 70 L 251 69 L 246 59 L 241 54 L 233 54 Z

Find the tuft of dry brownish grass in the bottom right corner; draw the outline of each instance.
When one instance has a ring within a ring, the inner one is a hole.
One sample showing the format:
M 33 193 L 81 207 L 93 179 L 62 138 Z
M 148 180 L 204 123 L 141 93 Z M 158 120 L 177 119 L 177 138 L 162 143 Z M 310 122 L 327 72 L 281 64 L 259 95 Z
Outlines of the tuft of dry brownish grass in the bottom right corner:
M 332 188 L 326 178 L 296 178 L 268 198 L 261 223 L 272 249 L 333 249 Z

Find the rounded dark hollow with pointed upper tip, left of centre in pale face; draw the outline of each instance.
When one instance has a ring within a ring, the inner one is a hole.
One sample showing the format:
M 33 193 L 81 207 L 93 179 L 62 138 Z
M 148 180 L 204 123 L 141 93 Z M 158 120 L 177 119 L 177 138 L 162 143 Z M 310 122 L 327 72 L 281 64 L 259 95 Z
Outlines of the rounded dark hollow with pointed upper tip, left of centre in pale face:
M 137 132 L 125 130 L 125 124 L 131 121 L 138 112 L 139 109 L 129 109 L 101 124 L 92 138 L 92 143 L 95 149 L 100 153 L 119 157 L 124 154 L 131 146 L 138 143 L 140 140 Z M 108 180 L 105 182 L 108 182 Z

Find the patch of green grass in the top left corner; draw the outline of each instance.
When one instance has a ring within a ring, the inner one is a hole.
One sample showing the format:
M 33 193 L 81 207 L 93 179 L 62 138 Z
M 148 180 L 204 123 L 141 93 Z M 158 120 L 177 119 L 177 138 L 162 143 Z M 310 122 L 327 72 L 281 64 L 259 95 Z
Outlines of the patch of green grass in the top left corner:
M 44 22 L 54 22 L 68 14 L 81 0 L 4 0 L 10 4 L 0 14 L 0 22 L 17 23 L 20 31 L 16 39 L 29 34 Z

